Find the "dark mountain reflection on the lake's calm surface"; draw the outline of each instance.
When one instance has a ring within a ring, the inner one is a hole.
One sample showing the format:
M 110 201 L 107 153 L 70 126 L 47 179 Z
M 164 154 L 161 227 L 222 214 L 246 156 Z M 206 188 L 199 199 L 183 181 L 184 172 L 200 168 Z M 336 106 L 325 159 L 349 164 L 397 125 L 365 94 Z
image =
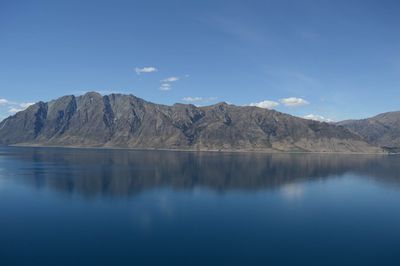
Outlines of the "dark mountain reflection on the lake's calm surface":
M 1 148 L 0 175 L 38 189 L 85 197 L 128 196 L 160 187 L 221 192 L 290 189 L 294 183 L 345 173 L 397 187 L 396 160 L 397 156 L 378 155 Z

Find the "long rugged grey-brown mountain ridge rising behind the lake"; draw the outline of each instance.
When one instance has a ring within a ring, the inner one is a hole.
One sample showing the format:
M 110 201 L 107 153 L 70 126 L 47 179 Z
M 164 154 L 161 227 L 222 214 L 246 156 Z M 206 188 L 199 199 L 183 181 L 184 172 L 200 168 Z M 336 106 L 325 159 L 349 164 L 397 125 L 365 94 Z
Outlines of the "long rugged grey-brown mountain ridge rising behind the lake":
M 0 144 L 184 150 L 381 152 L 337 125 L 218 103 L 159 105 L 133 95 L 64 96 L 0 123 Z

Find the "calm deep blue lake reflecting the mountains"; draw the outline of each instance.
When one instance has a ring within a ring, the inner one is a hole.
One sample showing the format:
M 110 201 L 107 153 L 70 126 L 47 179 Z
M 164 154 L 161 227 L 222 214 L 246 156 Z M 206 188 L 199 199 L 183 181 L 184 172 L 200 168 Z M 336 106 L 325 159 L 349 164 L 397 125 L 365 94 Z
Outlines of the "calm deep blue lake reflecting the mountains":
M 0 265 L 400 265 L 400 157 L 0 148 Z

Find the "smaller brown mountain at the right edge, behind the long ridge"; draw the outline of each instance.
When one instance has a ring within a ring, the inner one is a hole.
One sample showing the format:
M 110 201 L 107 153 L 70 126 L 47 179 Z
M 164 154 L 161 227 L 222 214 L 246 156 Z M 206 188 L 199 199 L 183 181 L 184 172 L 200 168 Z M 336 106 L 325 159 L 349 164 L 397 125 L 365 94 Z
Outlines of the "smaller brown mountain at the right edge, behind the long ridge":
M 337 123 L 359 134 L 368 143 L 400 151 L 400 112 L 389 112 L 368 119 Z

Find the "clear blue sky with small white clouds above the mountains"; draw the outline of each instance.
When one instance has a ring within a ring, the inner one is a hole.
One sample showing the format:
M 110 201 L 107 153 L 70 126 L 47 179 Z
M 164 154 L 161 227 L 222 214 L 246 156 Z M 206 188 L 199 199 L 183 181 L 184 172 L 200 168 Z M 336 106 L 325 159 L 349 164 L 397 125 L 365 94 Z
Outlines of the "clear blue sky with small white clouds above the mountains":
M 340 121 L 400 110 L 400 2 L 0 0 L 0 119 L 88 91 Z

